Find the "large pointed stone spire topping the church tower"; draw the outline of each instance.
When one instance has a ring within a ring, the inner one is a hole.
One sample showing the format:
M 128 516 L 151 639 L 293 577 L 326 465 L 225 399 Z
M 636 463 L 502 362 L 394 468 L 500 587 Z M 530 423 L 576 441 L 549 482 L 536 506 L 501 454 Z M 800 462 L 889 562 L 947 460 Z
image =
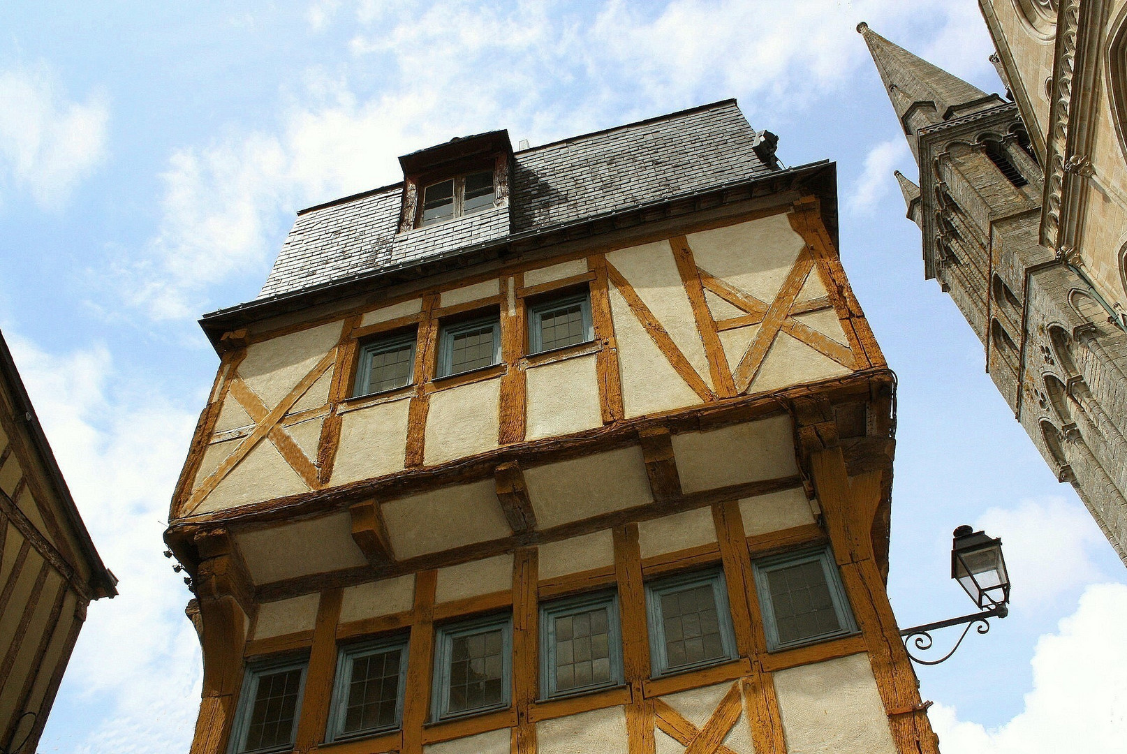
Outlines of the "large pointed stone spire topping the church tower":
M 869 53 L 917 162 L 920 156 L 915 135 L 920 128 L 1003 103 L 997 95 L 987 95 L 893 44 L 864 21 L 857 25 L 857 30 L 869 45 Z

